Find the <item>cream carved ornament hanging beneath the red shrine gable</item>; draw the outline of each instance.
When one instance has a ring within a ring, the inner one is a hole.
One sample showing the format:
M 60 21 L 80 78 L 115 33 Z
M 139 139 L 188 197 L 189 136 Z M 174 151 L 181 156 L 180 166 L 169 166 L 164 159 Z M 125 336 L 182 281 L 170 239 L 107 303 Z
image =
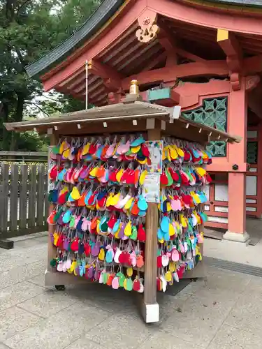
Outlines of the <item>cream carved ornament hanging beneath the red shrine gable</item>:
M 159 26 L 157 22 L 157 13 L 151 10 L 146 10 L 143 15 L 138 18 L 140 29 L 136 31 L 136 37 L 141 43 L 150 43 L 157 38 Z

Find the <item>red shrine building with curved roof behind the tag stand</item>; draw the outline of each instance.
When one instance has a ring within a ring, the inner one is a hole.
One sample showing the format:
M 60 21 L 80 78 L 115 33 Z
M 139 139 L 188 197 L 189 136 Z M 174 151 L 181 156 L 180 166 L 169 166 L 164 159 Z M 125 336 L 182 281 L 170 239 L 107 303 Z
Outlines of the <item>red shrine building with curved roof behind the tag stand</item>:
M 119 103 L 138 80 L 145 101 L 240 136 L 208 146 L 205 211 L 224 239 L 246 242 L 246 217 L 262 215 L 261 23 L 258 0 L 105 0 L 27 73 L 83 101 L 87 83 L 98 107 Z

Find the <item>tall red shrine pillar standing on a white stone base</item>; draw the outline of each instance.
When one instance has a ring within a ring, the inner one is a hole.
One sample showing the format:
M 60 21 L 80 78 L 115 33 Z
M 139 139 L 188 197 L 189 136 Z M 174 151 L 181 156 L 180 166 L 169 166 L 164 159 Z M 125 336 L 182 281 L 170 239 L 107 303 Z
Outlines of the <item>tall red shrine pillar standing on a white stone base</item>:
M 245 78 L 238 91 L 231 91 L 228 101 L 228 132 L 242 137 L 240 143 L 228 144 L 228 161 L 239 168 L 247 162 L 247 93 Z M 246 242 L 246 173 L 234 166 L 228 173 L 228 231 L 224 239 Z

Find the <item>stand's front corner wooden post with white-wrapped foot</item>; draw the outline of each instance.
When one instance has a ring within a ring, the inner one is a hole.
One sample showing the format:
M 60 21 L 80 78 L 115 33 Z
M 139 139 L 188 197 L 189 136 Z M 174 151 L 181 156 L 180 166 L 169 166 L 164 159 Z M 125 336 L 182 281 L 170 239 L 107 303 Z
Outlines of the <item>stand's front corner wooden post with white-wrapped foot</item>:
M 154 124 L 154 123 L 153 123 Z M 160 140 L 161 129 L 148 130 L 148 140 Z M 148 202 L 145 230 L 145 281 L 143 317 L 145 322 L 159 321 L 159 304 L 157 303 L 157 228 L 159 224 L 159 210 L 157 203 Z

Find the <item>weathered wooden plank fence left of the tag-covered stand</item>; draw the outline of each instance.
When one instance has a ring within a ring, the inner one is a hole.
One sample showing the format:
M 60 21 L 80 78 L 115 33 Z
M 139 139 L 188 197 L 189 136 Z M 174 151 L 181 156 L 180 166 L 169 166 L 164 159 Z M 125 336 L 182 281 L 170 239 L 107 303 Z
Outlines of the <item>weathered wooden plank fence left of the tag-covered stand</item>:
M 0 237 L 47 229 L 48 166 L 0 165 Z

